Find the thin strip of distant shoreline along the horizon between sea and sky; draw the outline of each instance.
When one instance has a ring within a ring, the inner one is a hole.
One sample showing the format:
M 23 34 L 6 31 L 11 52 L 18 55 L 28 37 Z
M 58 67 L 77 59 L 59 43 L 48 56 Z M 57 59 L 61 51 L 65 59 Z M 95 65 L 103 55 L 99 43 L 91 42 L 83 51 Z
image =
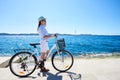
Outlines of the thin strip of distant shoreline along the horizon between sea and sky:
M 68 35 L 68 36 L 120 36 L 120 35 L 98 35 L 98 34 L 59 34 L 58 35 Z M 0 33 L 0 35 L 38 35 L 38 33 Z

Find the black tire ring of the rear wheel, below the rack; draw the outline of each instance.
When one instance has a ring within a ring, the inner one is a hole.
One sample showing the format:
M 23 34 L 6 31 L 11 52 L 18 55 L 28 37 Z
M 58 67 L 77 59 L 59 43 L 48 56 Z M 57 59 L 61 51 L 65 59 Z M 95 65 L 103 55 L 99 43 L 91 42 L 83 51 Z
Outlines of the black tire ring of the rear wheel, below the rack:
M 15 58 L 16 56 L 20 55 L 20 54 L 32 55 L 32 53 L 30 53 L 30 52 L 18 52 L 18 53 L 16 53 L 15 55 L 13 55 L 13 56 L 11 57 L 10 61 L 9 61 L 10 71 L 11 71 L 15 76 L 18 76 L 18 77 L 27 77 L 27 76 L 31 75 L 31 74 L 35 71 L 35 69 L 36 69 L 36 67 L 37 67 L 37 58 L 36 58 L 34 55 L 32 55 L 33 59 L 35 60 L 35 66 L 34 66 L 33 70 L 32 70 L 29 74 L 19 75 L 19 74 L 16 74 L 16 73 L 14 72 L 14 70 L 13 70 L 13 68 L 12 68 L 12 62 L 13 62 L 14 58 Z

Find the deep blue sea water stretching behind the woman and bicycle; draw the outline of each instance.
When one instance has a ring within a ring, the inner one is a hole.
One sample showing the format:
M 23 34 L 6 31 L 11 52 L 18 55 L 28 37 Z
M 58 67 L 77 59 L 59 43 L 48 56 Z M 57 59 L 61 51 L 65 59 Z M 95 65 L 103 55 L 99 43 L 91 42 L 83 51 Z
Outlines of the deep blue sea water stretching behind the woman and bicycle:
M 66 49 L 73 55 L 120 53 L 120 36 L 60 35 L 59 38 L 65 38 Z M 13 55 L 14 49 L 33 49 L 29 45 L 32 42 L 39 42 L 39 36 L 0 35 L 0 56 Z M 49 46 L 53 43 L 54 39 L 50 39 Z

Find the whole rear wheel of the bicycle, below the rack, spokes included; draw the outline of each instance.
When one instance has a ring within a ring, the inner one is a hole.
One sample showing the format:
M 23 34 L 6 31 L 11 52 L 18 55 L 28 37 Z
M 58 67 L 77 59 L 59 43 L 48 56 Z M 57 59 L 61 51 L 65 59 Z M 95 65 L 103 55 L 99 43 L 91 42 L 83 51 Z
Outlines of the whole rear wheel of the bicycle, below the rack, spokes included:
M 16 53 L 9 62 L 10 71 L 18 77 L 26 77 L 32 74 L 37 66 L 37 59 L 32 53 Z

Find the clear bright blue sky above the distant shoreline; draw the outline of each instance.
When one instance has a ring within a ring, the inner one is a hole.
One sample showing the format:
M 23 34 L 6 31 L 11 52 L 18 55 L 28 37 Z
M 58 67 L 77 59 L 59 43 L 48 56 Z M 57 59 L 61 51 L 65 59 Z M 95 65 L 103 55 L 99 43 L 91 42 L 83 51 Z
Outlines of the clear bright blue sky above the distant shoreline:
M 0 0 L 0 33 L 120 35 L 120 0 Z

